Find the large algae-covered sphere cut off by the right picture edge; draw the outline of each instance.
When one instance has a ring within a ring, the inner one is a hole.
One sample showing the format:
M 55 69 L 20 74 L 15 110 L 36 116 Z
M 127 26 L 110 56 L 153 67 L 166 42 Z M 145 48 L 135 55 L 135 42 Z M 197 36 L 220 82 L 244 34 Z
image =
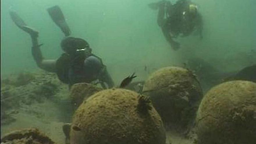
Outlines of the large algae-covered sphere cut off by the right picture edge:
M 256 83 L 229 81 L 211 88 L 196 123 L 199 144 L 255 144 Z

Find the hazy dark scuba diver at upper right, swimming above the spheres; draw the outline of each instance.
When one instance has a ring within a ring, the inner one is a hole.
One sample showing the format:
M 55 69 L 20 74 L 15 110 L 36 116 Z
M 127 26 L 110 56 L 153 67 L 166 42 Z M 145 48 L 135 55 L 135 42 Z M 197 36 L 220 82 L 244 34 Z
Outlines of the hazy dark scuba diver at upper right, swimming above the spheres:
M 190 0 L 178 0 L 175 4 L 163 0 L 148 6 L 153 10 L 158 9 L 157 24 L 174 50 L 180 47 L 180 44 L 173 40 L 179 34 L 185 37 L 197 29 L 202 39 L 202 16 L 198 7 Z

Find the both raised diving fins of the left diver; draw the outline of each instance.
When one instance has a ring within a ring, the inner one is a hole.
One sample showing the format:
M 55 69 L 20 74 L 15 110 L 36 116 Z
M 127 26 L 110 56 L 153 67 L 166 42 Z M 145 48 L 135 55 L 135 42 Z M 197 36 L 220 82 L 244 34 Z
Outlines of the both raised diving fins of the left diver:
M 61 11 L 61 8 L 59 6 L 53 6 L 47 9 L 51 19 L 54 21 L 54 23 L 61 29 L 61 31 L 65 34 L 65 36 L 69 36 L 71 34 L 70 28 L 67 25 L 67 22 L 65 20 L 65 17 Z M 28 33 L 35 33 L 38 34 L 35 30 L 31 29 L 27 26 L 27 24 L 22 20 L 21 17 L 14 11 L 10 10 L 10 16 L 13 22 L 22 30 L 28 32 Z

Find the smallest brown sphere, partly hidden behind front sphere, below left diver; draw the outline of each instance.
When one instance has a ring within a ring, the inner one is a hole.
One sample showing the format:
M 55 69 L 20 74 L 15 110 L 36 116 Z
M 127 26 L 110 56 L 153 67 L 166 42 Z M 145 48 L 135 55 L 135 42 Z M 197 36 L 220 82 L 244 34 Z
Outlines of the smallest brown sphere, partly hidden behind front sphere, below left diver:
M 70 89 L 70 98 L 74 104 L 79 106 L 83 100 L 103 90 L 91 83 L 76 83 Z

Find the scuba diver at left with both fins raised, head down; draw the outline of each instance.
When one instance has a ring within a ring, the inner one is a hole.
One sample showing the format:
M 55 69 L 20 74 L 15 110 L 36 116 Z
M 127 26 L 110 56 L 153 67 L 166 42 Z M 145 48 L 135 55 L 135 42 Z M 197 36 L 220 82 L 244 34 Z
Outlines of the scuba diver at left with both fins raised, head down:
M 64 15 L 58 6 L 47 9 L 51 19 L 65 34 L 61 41 L 61 48 L 65 52 L 57 60 L 44 59 L 38 44 L 38 31 L 27 26 L 19 15 L 10 10 L 13 22 L 23 31 L 29 33 L 32 39 L 32 55 L 38 67 L 48 72 L 54 72 L 69 88 L 80 82 L 91 83 L 97 81 L 103 88 L 112 88 L 113 80 L 102 63 L 101 58 L 92 54 L 92 49 L 86 40 L 70 37 L 70 28 L 65 22 Z

